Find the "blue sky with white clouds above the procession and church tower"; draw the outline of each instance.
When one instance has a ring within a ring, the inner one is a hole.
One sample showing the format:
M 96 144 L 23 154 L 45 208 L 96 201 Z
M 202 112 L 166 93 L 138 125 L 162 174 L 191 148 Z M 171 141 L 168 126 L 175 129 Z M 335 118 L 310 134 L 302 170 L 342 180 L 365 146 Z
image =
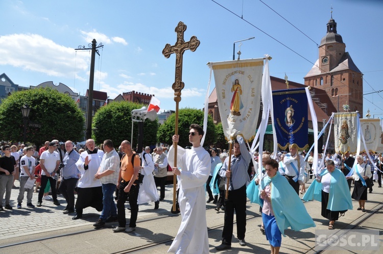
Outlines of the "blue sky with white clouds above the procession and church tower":
M 206 63 L 231 60 L 237 40 L 255 37 L 243 42 L 241 59 L 269 54 L 271 75 L 283 79 L 286 73 L 289 81 L 303 83 L 318 59 L 317 44 L 326 34 L 332 6 L 346 51 L 364 73 L 364 93 L 383 90 L 381 1 L 263 1 L 305 35 L 261 1 L 215 1 L 243 19 L 210 0 L 2 0 L 0 72 L 20 86 L 52 81 L 83 95 L 90 54 L 74 49 L 94 38 L 105 45 L 95 61 L 95 90 L 108 92 L 110 98 L 131 90 L 155 94 L 161 109 L 174 110 L 175 56 L 166 59 L 162 49 L 176 42 L 174 29 L 183 21 L 185 41 L 195 35 L 201 44 L 196 52 L 184 54 L 180 108 L 203 108 L 209 80 Z M 369 109 L 382 117 L 382 99 L 383 92 L 365 95 L 363 114 Z

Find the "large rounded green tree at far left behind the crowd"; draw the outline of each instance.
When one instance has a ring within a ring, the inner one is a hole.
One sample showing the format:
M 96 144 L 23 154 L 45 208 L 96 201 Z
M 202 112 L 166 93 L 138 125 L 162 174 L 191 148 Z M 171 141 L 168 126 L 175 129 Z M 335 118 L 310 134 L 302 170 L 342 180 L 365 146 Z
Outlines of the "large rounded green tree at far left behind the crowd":
M 21 107 L 31 108 L 29 122 L 41 128 L 27 126 L 27 142 L 40 145 L 45 141 L 79 141 L 84 134 L 84 116 L 68 95 L 51 88 L 23 90 L 12 93 L 0 105 L 0 138 L 23 140 L 24 125 Z

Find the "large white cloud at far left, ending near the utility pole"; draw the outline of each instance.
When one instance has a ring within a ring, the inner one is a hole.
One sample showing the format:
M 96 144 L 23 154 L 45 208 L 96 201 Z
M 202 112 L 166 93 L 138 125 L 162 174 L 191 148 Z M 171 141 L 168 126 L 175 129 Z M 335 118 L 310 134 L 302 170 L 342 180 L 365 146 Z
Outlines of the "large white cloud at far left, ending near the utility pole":
M 78 77 L 78 72 L 88 70 L 88 55 L 75 54 L 73 48 L 41 35 L 0 36 L 0 45 L 0 65 L 12 65 L 53 77 Z

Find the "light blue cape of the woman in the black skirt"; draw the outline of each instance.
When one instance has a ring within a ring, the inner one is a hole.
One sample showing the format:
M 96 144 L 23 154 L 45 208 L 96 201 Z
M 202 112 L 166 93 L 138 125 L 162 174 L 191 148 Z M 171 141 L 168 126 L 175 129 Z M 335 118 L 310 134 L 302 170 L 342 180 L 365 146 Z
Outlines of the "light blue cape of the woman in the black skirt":
M 327 169 L 320 174 L 323 176 L 327 174 Z M 322 183 L 318 181 L 313 181 L 313 183 L 308 187 L 303 198 L 304 201 L 317 200 L 322 201 Z M 345 211 L 352 210 L 352 200 L 350 190 L 348 189 L 348 184 L 346 177 L 341 170 L 335 169 L 331 173 L 331 184 L 330 192 L 328 193 L 328 204 L 327 209 L 330 211 Z

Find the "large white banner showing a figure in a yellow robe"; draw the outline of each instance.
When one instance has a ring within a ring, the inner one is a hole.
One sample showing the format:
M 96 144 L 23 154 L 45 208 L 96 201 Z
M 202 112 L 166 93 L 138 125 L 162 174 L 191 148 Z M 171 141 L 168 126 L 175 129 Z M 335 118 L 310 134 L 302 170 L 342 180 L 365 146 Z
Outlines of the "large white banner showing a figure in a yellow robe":
M 250 142 L 255 135 L 260 107 L 264 59 L 211 63 L 216 81 L 218 107 L 226 140 L 242 135 Z

